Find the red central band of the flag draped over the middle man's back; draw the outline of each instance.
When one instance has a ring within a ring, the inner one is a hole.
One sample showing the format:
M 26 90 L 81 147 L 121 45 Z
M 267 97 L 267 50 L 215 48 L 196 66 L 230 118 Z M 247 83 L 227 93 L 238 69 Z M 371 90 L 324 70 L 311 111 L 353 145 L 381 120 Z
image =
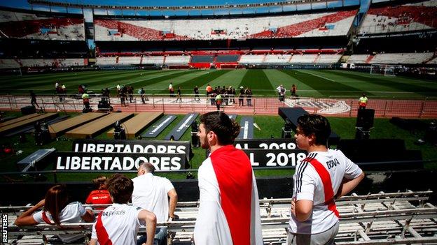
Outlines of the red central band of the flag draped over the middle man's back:
M 252 167 L 249 158 L 232 144 L 216 149 L 211 156 L 219 182 L 221 208 L 228 222 L 233 245 L 251 241 Z

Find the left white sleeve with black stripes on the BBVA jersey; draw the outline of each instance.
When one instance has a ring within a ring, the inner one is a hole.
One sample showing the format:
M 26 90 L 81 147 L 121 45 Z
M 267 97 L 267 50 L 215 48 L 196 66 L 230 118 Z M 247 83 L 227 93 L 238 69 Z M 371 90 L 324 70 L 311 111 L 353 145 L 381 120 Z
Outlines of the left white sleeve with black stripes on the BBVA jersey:
M 294 188 L 296 188 L 296 200 L 314 201 L 315 182 L 312 178 L 312 167 L 309 163 L 302 163 L 296 169 Z

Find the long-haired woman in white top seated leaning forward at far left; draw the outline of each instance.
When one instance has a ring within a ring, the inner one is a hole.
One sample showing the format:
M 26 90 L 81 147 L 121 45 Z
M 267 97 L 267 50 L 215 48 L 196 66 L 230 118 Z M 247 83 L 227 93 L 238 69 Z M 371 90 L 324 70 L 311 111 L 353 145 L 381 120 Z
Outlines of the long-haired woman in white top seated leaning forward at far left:
M 37 211 L 38 209 L 43 210 Z M 64 185 L 48 189 L 46 198 L 22 213 L 15 220 L 15 225 L 29 226 L 41 223 L 61 225 L 61 223 L 93 222 L 94 214 L 90 208 L 84 208 L 80 202 L 69 202 L 69 194 Z M 81 234 L 60 234 L 62 242 L 76 242 L 83 238 Z

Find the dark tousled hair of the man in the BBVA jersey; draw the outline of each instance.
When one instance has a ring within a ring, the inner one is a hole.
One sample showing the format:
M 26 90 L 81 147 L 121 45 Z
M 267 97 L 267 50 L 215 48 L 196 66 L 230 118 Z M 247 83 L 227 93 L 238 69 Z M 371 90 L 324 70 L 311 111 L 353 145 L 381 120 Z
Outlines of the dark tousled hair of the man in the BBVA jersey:
M 319 114 L 305 114 L 298 118 L 298 127 L 304 135 L 315 135 L 315 144 L 328 145 L 331 125 L 326 117 Z

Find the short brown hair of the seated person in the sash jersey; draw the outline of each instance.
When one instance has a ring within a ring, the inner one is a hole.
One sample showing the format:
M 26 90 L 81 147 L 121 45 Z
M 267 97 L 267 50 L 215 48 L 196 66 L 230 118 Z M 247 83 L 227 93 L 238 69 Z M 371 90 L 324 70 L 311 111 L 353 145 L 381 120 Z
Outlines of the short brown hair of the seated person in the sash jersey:
M 109 194 L 114 203 L 127 203 L 132 198 L 134 182 L 125 175 L 115 174 L 106 182 Z

